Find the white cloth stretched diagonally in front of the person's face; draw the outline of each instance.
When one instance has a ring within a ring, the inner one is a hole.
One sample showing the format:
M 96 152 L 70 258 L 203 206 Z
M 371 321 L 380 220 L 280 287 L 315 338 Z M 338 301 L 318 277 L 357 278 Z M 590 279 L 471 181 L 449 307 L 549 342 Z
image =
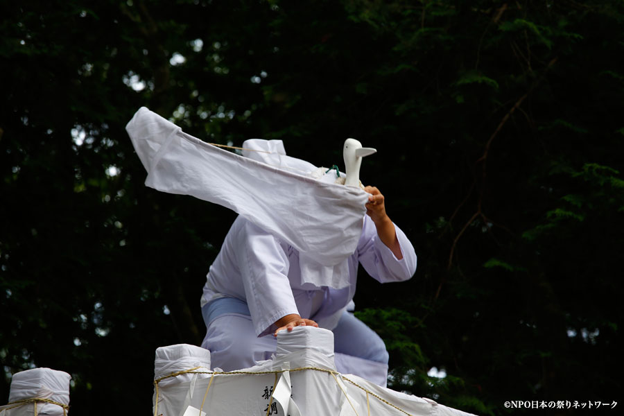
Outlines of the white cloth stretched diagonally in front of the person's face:
M 363 190 L 222 150 L 146 107 L 125 129 L 148 173 L 146 186 L 232 209 L 323 266 L 312 283 L 348 286 L 342 269 L 361 234 Z

